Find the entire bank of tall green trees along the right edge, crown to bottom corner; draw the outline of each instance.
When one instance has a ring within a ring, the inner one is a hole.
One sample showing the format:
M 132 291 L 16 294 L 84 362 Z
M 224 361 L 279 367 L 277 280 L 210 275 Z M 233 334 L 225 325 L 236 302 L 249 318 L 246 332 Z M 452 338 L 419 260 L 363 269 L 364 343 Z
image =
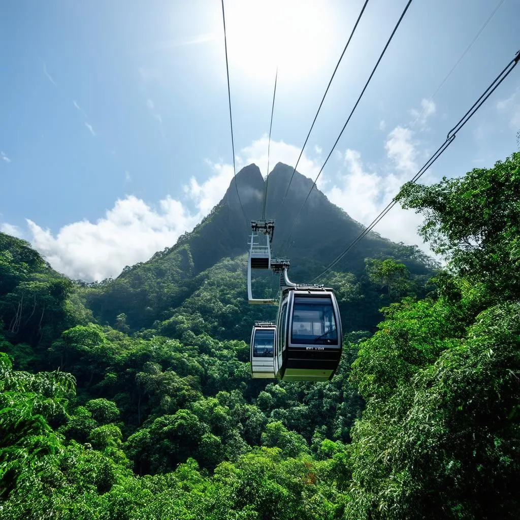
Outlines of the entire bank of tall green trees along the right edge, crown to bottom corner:
M 359 347 L 348 518 L 518 516 L 519 172 L 516 153 L 397 198 L 450 271 L 435 297 L 383 309 Z

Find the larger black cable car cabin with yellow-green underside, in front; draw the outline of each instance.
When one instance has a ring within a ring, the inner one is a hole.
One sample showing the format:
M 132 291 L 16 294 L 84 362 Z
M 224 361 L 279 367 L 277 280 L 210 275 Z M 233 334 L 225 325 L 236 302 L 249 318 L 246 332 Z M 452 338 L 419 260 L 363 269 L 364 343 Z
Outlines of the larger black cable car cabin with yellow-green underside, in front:
M 284 381 L 329 381 L 340 363 L 340 310 L 332 289 L 282 289 L 275 373 Z

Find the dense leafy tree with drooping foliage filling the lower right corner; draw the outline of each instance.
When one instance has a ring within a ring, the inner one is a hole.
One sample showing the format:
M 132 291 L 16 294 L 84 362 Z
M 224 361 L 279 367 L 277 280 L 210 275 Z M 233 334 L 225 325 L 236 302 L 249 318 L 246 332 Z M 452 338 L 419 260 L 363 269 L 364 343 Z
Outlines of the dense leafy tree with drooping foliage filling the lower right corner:
M 413 376 L 374 360 L 389 372 L 384 394 L 381 376 L 358 380 L 368 402 L 354 427 L 349 518 L 517 517 L 520 304 L 485 310 L 464 336 L 423 337 L 423 350 L 441 353 Z M 374 356 L 382 347 L 369 340 L 363 349 Z

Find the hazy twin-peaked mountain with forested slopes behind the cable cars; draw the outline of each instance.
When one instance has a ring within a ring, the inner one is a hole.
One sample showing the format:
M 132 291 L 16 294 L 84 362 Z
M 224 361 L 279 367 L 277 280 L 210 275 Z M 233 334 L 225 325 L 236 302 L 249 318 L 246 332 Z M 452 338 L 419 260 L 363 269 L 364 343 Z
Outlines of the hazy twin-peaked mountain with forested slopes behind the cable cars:
M 275 257 L 289 256 L 292 261 L 291 277 L 295 281 L 305 282 L 318 275 L 363 228 L 331 204 L 316 188 L 305 210 L 295 220 L 312 181 L 296 172 L 284 199 L 292 172 L 290 166 L 278 163 L 269 174 L 266 216 L 276 217 L 272 254 Z M 172 248 L 156 253 L 148 262 L 125 268 L 115 280 L 91 285 L 87 291 L 87 302 L 100 323 L 114 326 L 117 316 L 123 313 L 130 330 L 150 329 L 154 322 L 163 322 L 179 314 L 176 309 L 186 308 L 187 301 L 197 297 L 194 293 L 206 284 L 204 280 L 210 279 L 207 283 L 211 283 L 218 275 L 219 283 L 227 285 L 220 276 L 223 269 L 231 269 L 229 283 L 237 290 L 237 298 L 232 302 L 223 302 L 223 305 L 234 306 L 227 311 L 229 319 L 237 321 L 244 317 L 249 324 L 252 319 L 269 317 L 246 304 L 246 260 L 243 256 L 248 249 L 250 220 L 262 215 L 266 184 L 254 164 L 244 167 L 237 174 L 236 183 L 235 180 L 231 181 L 224 198 L 210 215 L 192 232 L 180 237 Z M 240 207 L 237 188 L 247 220 Z M 292 238 L 288 242 L 290 235 Z M 335 270 L 352 272 L 358 282 L 366 275 L 366 258 L 388 257 L 404 263 L 412 276 L 431 275 L 435 266 L 416 246 L 396 244 L 376 233 L 369 233 L 352 253 L 335 266 Z M 258 279 L 255 290 L 263 297 L 272 297 L 276 295 L 276 283 L 276 277 L 268 280 L 264 276 Z M 364 314 L 370 315 L 370 318 L 365 322 L 357 320 L 352 326 L 358 329 L 373 328 L 381 318 L 377 312 L 379 306 L 378 303 L 375 309 L 366 309 Z M 247 327 L 239 327 L 239 335 L 236 335 L 235 329 L 229 328 L 228 324 L 220 326 L 228 331 L 225 337 L 246 339 Z

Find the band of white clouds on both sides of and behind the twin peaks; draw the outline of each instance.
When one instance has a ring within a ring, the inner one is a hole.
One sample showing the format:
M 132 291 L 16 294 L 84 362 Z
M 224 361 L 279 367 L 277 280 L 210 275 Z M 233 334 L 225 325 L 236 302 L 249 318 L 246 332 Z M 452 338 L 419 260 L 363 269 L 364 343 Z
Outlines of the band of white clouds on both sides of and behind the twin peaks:
M 410 111 L 412 117 L 422 114 L 424 122 L 417 131 L 396 126 L 386 134 L 382 164 L 367 165 L 358 150 L 347 148 L 334 155 L 320 177 L 318 188 L 358 222 L 370 224 L 400 186 L 417 172 L 421 128 L 435 113 L 435 105 L 425 101 L 421 103 L 422 112 Z M 151 103 L 147 104 L 153 110 Z M 383 130 L 384 125 L 380 128 Z M 268 138 L 264 135 L 242 148 L 235 158 L 237 171 L 246 164 L 255 163 L 265 175 L 267 146 Z M 307 152 L 302 154 L 298 171 L 314 180 L 323 159 L 321 148 L 315 147 L 312 153 L 314 156 Z M 269 170 L 277 162 L 294 165 L 299 154 L 297 146 L 271 141 Z M 56 270 L 73 279 L 115 277 L 126 265 L 146 261 L 156 251 L 174 245 L 182 233 L 192 229 L 222 199 L 232 180 L 233 166 L 210 160 L 206 160 L 206 164 L 211 174 L 202 181 L 194 177 L 188 181 L 184 186 L 185 202 L 168 196 L 160 200 L 157 207 L 152 207 L 135 196 L 127 196 L 117 200 L 112 209 L 96 222 L 74 222 L 63 226 L 54 235 L 27 220 L 30 240 Z M 130 180 L 128 172 L 125 172 L 125 177 L 126 181 Z M 375 231 L 395 241 L 420 244 L 416 230 L 421 221 L 420 216 L 395 206 Z M 21 235 L 16 226 L 6 223 L 0 226 L 11 235 Z M 427 246 L 422 247 L 429 251 Z

